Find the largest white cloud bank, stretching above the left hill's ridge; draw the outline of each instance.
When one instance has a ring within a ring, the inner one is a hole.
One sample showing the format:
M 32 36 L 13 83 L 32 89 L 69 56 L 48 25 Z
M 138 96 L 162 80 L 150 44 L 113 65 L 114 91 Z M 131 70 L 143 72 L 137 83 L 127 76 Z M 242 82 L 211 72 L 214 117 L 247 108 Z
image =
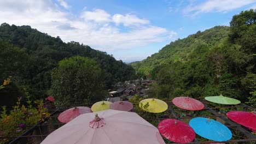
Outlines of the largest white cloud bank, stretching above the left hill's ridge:
M 74 40 L 107 52 L 136 49 L 175 35 L 165 28 L 149 25 L 149 20 L 136 15 L 110 15 L 102 9 L 84 9 L 80 16 L 75 16 L 63 11 L 59 3 L 47 0 L 0 0 L 0 24 L 3 22 L 30 25 L 53 37 L 60 36 L 65 42 Z M 127 26 L 125 32 L 115 24 Z

